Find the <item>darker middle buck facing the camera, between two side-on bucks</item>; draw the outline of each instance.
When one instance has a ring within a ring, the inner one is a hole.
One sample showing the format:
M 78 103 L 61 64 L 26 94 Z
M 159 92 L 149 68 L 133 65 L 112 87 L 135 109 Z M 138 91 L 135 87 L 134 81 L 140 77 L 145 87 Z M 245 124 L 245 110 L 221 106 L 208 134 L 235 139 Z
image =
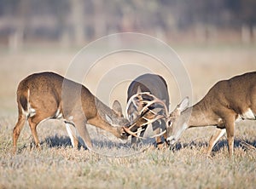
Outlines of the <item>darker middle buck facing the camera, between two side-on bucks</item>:
M 158 103 L 160 100 L 162 103 Z M 141 138 L 149 123 L 152 123 L 155 133 L 160 134 L 160 129 L 166 130 L 165 120 L 161 119 L 163 117 L 157 117 L 156 113 L 158 115 L 162 112 L 168 113 L 168 107 L 169 94 L 166 81 L 163 77 L 155 74 L 143 74 L 131 82 L 127 91 L 125 113 L 128 120 L 136 124 L 129 130 L 125 129 L 125 131 L 132 135 L 131 143 L 133 145 L 137 142 L 137 135 L 134 135 L 137 129 L 142 128 L 139 137 Z M 156 145 L 160 147 L 163 141 L 158 136 Z

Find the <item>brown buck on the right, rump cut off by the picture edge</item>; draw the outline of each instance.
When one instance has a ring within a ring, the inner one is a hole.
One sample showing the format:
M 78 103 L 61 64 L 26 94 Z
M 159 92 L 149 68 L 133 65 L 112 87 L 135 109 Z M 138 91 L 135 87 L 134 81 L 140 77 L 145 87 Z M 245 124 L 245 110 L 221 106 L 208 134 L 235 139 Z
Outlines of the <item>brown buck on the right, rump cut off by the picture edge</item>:
M 230 156 L 234 152 L 235 123 L 241 119 L 256 117 L 256 72 L 248 72 L 229 80 L 219 81 L 207 95 L 194 106 L 189 107 L 185 98 L 171 113 L 167 129 L 167 143 L 173 145 L 185 129 L 192 127 L 217 126 L 212 135 L 207 154 L 221 136 L 227 132 Z

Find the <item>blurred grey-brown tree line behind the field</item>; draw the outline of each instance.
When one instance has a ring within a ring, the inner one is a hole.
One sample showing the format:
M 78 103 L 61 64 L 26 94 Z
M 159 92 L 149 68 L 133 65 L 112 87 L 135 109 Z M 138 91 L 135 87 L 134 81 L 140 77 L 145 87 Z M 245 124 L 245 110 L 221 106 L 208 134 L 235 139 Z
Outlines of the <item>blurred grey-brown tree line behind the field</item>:
M 81 45 L 116 32 L 166 41 L 256 38 L 255 0 L 0 0 L 0 44 Z

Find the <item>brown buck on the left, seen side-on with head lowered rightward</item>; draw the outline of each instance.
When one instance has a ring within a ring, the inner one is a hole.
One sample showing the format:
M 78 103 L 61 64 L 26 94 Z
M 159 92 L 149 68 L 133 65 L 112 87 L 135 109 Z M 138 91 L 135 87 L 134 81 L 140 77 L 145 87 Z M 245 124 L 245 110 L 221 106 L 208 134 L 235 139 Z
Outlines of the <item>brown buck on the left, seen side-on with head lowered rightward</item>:
M 127 139 L 123 127 L 127 126 L 128 120 L 115 111 L 121 111 L 118 103 L 114 103 L 116 107 L 112 110 L 83 85 L 56 73 L 41 72 L 26 77 L 18 86 L 17 102 L 19 117 L 13 131 L 14 152 L 26 120 L 36 146 L 39 146 L 37 126 L 49 118 L 63 119 L 73 147 L 78 147 L 79 142 L 89 149 L 92 147 L 86 123 Z

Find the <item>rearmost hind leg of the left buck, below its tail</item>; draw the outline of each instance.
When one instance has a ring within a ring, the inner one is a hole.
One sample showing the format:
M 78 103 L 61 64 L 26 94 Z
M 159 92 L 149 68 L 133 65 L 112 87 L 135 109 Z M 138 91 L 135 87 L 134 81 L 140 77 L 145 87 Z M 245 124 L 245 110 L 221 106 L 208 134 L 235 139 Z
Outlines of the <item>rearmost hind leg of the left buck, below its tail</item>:
M 23 129 L 24 125 L 26 123 L 26 116 L 23 114 L 19 115 L 18 121 L 15 124 L 15 128 L 13 131 L 13 152 L 15 153 L 17 150 L 17 140 L 20 136 L 20 131 Z

